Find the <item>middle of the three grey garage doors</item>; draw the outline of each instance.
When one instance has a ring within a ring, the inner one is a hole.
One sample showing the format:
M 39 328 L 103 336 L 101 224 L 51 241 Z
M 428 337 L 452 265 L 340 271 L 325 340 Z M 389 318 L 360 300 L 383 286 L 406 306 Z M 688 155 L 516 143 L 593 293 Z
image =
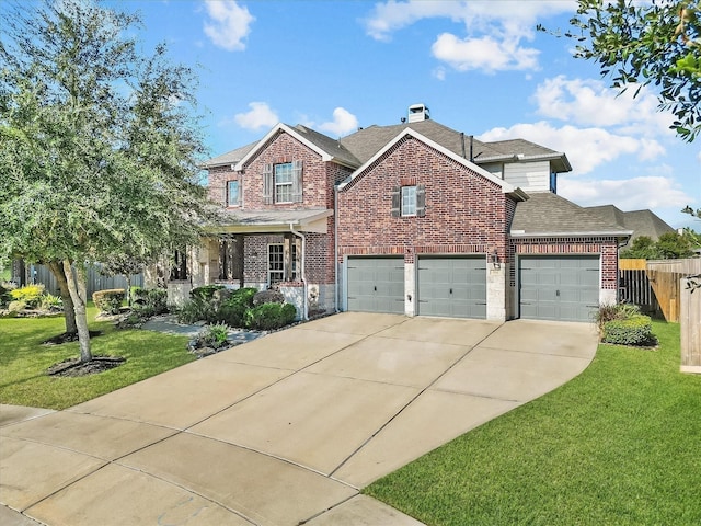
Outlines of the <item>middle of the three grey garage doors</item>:
M 486 318 L 486 259 L 420 258 L 418 313 Z

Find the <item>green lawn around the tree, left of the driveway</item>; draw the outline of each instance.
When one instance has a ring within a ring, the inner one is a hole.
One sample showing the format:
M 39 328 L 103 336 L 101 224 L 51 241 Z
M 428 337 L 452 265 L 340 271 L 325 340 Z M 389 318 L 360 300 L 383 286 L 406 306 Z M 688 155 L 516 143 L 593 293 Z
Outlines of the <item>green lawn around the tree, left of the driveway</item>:
M 94 320 L 91 307 L 88 319 Z M 44 346 L 41 342 L 65 330 L 64 318 L 0 319 L 0 403 L 65 409 L 192 362 L 186 336 L 143 330 L 116 330 L 110 322 L 92 322 L 104 331 L 92 339 L 93 355 L 123 356 L 114 369 L 79 378 L 49 377 L 46 369 L 79 356 L 78 343 Z

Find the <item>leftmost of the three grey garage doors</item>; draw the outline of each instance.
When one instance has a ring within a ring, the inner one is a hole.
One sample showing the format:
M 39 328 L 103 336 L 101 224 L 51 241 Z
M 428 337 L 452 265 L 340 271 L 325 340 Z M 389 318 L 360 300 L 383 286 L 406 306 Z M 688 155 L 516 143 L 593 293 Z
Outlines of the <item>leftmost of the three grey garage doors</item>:
M 348 310 L 404 313 L 404 258 L 348 258 Z

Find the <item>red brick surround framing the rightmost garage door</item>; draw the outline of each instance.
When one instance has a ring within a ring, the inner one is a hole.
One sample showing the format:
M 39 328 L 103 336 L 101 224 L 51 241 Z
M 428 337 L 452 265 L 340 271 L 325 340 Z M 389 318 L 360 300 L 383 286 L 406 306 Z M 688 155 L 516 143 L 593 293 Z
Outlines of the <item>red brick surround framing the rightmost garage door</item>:
M 618 288 L 618 241 L 611 237 L 513 239 L 512 254 L 601 254 L 601 288 Z M 516 284 L 512 265 L 510 284 Z

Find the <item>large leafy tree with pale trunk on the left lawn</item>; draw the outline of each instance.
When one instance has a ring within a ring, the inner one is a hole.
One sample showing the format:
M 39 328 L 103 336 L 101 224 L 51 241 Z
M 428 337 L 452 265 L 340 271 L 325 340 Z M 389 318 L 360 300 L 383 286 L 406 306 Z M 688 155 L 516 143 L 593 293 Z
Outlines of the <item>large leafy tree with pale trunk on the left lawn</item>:
M 90 361 L 85 265 L 156 259 L 211 217 L 196 78 L 163 45 L 140 52 L 139 18 L 97 1 L 3 2 L 0 16 L 0 254 L 62 273 Z

